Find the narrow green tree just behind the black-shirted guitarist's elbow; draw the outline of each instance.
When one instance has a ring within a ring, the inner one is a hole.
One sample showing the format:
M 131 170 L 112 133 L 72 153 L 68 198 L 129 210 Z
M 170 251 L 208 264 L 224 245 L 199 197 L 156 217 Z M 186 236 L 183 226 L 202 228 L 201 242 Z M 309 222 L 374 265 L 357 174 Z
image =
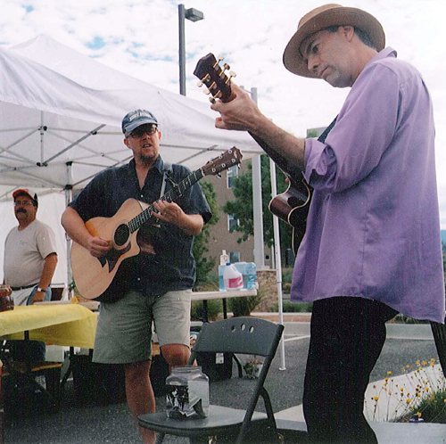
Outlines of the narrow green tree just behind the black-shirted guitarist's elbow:
M 210 182 L 202 182 L 202 193 L 211 207 L 212 218 L 202 227 L 202 233 L 195 237 L 194 242 L 194 258 L 196 262 L 196 282 L 195 287 L 206 284 L 209 279 L 209 273 L 215 266 L 215 259 L 205 258 L 204 254 L 209 251 L 207 244 L 210 239 L 210 226 L 217 224 L 219 221 L 219 205 L 217 204 L 217 193 L 215 193 L 214 185 Z

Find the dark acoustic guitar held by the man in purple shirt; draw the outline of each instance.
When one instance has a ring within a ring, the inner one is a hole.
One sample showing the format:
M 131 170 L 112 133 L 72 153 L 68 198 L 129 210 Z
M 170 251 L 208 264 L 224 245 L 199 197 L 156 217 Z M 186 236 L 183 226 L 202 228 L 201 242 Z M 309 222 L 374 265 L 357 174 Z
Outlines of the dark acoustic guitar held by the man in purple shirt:
M 221 60 L 223 58 L 219 57 L 219 61 Z M 235 98 L 231 91 L 231 78 L 235 77 L 235 74 L 231 72 L 227 76 L 226 71 L 230 70 L 229 65 L 225 63 L 221 68 L 219 61 L 212 53 L 207 54 L 198 61 L 194 76 L 200 79 L 199 86 L 207 86 L 205 93 L 211 95 L 211 102 L 219 99 L 227 103 Z M 293 251 L 296 254 L 305 234 L 312 188 L 301 175 L 300 169 L 290 165 L 274 147 L 269 146 L 252 133 L 250 134 L 277 166 L 282 169 L 288 179 L 287 190 L 285 193 L 277 194 L 269 202 L 269 210 L 278 218 L 293 226 Z

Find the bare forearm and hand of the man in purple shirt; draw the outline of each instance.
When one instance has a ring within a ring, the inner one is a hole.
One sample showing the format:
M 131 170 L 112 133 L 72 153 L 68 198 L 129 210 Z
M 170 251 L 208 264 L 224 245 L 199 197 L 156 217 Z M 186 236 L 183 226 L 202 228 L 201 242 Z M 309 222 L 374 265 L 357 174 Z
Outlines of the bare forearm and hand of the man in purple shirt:
M 211 104 L 211 109 L 220 113 L 220 117 L 215 119 L 215 127 L 249 131 L 273 160 L 279 156 L 290 167 L 293 166 L 288 169 L 289 173 L 292 172 L 290 169 L 303 169 L 305 139 L 294 137 L 277 127 L 260 112 L 250 96 L 234 83 L 231 83 L 231 92 L 230 102 L 223 103 L 217 100 Z

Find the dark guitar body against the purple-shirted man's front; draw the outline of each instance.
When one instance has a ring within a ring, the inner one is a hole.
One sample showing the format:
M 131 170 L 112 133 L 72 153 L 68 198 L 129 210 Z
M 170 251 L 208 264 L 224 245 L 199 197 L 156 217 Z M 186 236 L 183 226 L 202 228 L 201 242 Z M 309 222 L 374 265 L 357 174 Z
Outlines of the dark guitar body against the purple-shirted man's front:
M 293 226 L 293 253 L 297 254 L 299 245 L 305 234 L 308 211 L 310 209 L 311 189 L 303 179 L 299 181 L 289 178 L 289 185 L 285 193 L 269 202 L 269 211 L 277 218 Z

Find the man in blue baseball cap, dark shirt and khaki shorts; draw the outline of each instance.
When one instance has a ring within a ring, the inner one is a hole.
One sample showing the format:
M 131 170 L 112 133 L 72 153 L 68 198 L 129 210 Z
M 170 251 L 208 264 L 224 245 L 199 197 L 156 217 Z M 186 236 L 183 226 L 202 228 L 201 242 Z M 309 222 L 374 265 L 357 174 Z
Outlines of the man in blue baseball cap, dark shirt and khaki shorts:
M 188 177 L 190 171 L 161 159 L 161 132 L 151 111 L 128 112 L 122 119 L 122 133 L 133 159 L 99 173 L 65 210 L 62 225 L 74 242 L 93 257 L 102 258 L 115 252 L 111 239 L 90 234 L 87 220 L 111 218 L 128 199 L 153 203 L 157 210 L 154 223 L 146 223 L 137 232 L 139 254 L 120 263 L 114 281 L 124 290 L 114 292 L 113 301 L 106 299 L 108 291 L 101 296 L 93 354 L 95 362 L 124 364 L 128 407 L 137 421 L 137 415 L 155 411 L 149 378 L 152 324 L 169 366 L 184 366 L 190 356 L 195 280 L 192 247 L 194 236 L 211 218 L 211 210 L 198 183 L 176 202 L 162 200 L 164 193 Z M 154 432 L 139 430 L 145 443 L 154 442 Z

